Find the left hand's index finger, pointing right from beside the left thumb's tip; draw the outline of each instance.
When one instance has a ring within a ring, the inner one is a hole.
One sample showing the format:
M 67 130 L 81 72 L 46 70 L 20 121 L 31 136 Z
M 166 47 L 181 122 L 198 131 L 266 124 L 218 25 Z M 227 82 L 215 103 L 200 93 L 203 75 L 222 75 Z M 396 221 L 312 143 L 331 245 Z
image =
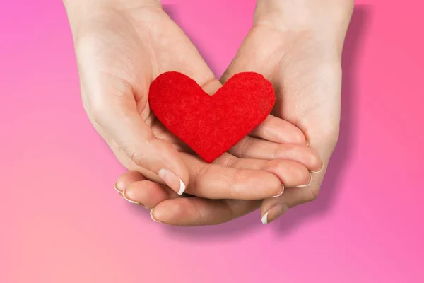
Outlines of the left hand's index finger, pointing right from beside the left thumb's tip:
M 281 181 L 273 173 L 209 164 L 190 154 L 182 153 L 182 156 L 192 183 L 186 192 L 191 195 L 208 199 L 263 200 L 283 192 Z

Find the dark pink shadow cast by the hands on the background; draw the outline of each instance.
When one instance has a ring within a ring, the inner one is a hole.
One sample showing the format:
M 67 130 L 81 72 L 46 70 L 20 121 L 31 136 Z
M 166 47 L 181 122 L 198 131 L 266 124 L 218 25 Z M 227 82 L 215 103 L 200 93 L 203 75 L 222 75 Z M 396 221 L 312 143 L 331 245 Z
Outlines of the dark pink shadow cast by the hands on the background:
M 175 18 L 173 5 L 165 5 L 165 11 Z M 355 117 L 353 107 L 355 103 L 355 85 L 356 75 L 358 74 L 358 58 L 360 56 L 361 37 L 364 36 L 367 23 L 370 21 L 372 6 L 357 5 L 351 19 L 346 41 L 343 49 L 343 87 L 341 101 L 341 128 L 340 137 L 336 150 L 334 151 L 329 168 L 322 184 L 322 190 L 319 197 L 314 202 L 302 204 L 299 207 L 290 209 L 290 211 L 276 220 L 276 231 L 280 235 L 286 235 L 293 231 L 296 227 L 302 225 L 308 219 L 313 219 L 314 216 L 323 216 L 331 209 L 336 198 L 336 193 L 341 188 L 341 180 L 349 158 L 351 158 L 351 144 L 354 139 L 355 132 Z M 179 228 L 166 226 L 167 232 L 172 234 L 173 238 L 189 238 L 192 241 L 203 241 L 205 239 L 228 238 L 229 236 L 238 236 L 249 231 L 254 231 L 261 226 L 260 215 L 258 212 L 248 214 L 240 219 L 230 221 L 226 224 L 218 226 L 199 226 L 189 228 Z

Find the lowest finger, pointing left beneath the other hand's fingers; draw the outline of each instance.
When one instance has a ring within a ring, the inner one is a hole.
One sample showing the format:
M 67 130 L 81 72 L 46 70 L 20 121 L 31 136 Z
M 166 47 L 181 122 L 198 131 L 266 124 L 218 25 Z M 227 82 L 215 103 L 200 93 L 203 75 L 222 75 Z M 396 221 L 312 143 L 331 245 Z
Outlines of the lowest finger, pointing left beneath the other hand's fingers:
M 151 210 L 153 220 L 175 226 L 222 224 L 253 212 L 261 201 L 206 200 L 199 197 L 165 200 Z

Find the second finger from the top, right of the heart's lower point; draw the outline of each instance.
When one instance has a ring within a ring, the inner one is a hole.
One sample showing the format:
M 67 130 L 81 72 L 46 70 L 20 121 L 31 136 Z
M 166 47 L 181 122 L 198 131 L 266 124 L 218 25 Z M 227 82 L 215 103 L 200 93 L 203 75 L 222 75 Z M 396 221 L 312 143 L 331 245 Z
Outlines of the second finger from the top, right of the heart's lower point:
M 238 158 L 297 161 L 310 171 L 319 171 L 322 168 L 321 158 L 314 149 L 300 145 L 277 144 L 249 136 L 228 150 L 228 153 Z

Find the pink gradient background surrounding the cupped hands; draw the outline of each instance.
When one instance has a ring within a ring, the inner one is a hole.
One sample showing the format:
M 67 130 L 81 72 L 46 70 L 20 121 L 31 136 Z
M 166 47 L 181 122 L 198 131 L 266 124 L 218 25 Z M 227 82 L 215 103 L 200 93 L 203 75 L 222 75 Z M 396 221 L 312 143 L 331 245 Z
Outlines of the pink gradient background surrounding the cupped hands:
M 165 4 L 222 74 L 254 1 Z M 357 4 L 319 199 L 181 229 L 113 190 L 124 169 L 83 112 L 61 1 L 3 1 L 0 282 L 424 282 L 423 4 Z

